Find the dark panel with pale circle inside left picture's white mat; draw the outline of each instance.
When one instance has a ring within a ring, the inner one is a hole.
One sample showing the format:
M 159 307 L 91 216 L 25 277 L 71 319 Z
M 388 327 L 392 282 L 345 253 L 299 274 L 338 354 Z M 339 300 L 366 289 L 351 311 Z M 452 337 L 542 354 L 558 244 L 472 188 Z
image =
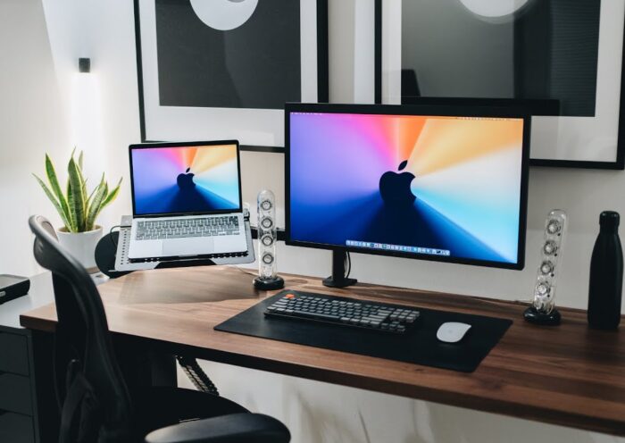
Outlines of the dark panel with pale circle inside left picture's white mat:
M 240 8 L 240 19 L 212 12 L 220 2 L 156 0 L 160 104 L 281 109 L 299 102 L 299 2 L 221 3 Z

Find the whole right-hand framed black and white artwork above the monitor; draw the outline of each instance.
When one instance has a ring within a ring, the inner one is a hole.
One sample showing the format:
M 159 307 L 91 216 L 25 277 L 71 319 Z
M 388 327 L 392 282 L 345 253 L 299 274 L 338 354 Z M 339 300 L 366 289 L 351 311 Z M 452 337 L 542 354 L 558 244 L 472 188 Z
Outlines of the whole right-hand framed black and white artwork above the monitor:
M 622 169 L 625 0 L 377 1 L 384 103 L 521 99 L 534 164 Z

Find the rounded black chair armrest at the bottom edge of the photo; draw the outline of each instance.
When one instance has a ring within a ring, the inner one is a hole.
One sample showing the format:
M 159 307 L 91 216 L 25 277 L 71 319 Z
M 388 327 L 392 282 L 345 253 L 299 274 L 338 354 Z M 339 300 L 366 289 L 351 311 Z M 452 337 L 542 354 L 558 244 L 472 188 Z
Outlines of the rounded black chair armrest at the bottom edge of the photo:
M 263 414 L 229 414 L 154 430 L 146 443 L 288 443 L 287 427 Z

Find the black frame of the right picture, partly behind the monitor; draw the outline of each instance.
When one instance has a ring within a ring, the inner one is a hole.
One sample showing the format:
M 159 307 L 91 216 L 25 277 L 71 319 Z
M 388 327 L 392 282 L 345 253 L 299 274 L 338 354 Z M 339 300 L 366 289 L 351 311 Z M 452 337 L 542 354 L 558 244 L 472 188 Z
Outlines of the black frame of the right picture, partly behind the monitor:
M 374 0 L 375 16 L 374 16 L 374 85 L 375 85 L 375 103 L 381 104 L 383 102 L 383 13 L 384 2 L 386 0 Z M 623 15 L 623 21 L 625 22 L 625 15 Z M 558 167 L 558 168 L 575 168 L 575 169 L 598 169 L 598 170 L 625 170 L 625 30 L 620 36 L 623 41 L 623 47 L 621 52 L 621 91 L 618 99 L 619 111 L 618 111 L 618 125 L 616 128 L 616 150 L 613 161 L 587 161 L 587 160 L 575 160 L 575 159 L 548 159 L 548 158 L 530 158 L 529 164 L 531 166 L 539 167 Z M 601 47 L 601 40 L 599 41 L 599 47 Z M 449 97 L 451 100 L 454 97 Z M 429 97 L 424 97 L 423 104 L 428 103 Z M 471 100 L 471 99 L 469 99 Z M 480 100 L 476 97 L 476 100 Z M 487 99 L 485 99 L 487 100 Z M 504 99 L 505 100 L 505 99 Z M 509 99 L 510 102 L 515 100 Z M 545 101 L 548 102 L 548 101 Z M 420 103 L 420 101 L 414 101 L 412 103 Z M 532 113 L 545 115 L 545 108 L 543 104 L 535 103 L 528 104 Z M 547 104 L 549 105 L 549 104 Z

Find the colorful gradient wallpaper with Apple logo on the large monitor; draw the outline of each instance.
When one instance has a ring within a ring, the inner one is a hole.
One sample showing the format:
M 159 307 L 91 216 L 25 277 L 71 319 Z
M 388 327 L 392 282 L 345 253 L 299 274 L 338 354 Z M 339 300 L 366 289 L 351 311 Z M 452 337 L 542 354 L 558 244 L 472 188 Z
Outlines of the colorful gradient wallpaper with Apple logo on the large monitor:
M 291 238 L 517 263 L 522 138 L 522 119 L 291 113 Z

